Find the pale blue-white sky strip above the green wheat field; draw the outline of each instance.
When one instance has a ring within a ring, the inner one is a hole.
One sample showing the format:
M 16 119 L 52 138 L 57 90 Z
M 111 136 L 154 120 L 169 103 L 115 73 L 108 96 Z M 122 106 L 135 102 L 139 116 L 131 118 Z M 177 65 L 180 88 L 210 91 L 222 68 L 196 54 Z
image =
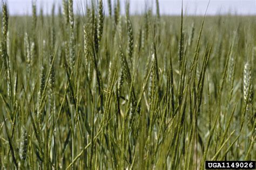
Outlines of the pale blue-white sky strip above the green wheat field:
M 36 1 L 37 11 L 42 8 L 44 14 L 50 13 L 52 4 L 56 6 L 56 12 L 62 4 L 62 0 L 6 0 L 10 15 L 31 15 L 32 1 Z M 86 0 L 73 0 L 74 11 L 81 13 L 85 8 Z M 95 0 L 96 1 L 96 0 Z M 112 1 L 112 5 L 114 0 Z M 120 0 L 122 13 L 126 0 Z M 103 0 L 105 13 L 108 13 L 107 0 Z M 208 0 L 183 0 L 183 8 L 186 15 L 204 15 Z M 155 0 L 130 0 L 130 12 L 141 14 L 146 6 L 156 10 Z M 180 15 L 181 0 L 159 0 L 161 15 Z M 256 15 L 256 0 L 211 0 L 206 15 Z

